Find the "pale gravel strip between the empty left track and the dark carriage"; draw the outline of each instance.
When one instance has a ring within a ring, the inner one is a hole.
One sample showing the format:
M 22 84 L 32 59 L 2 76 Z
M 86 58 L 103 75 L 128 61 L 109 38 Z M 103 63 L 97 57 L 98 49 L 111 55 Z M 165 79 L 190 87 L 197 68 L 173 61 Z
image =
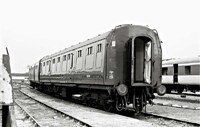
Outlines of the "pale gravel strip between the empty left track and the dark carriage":
M 91 126 L 96 127 L 159 127 L 154 123 L 149 123 L 146 121 L 141 121 L 138 119 L 113 114 L 110 112 L 105 112 L 91 107 L 85 107 L 83 105 L 74 104 L 65 100 L 50 97 L 46 94 L 42 94 L 38 91 L 23 89 L 23 92 L 37 98 L 37 100 L 52 106 L 66 114 L 75 117 Z M 44 97 L 45 96 L 45 97 Z

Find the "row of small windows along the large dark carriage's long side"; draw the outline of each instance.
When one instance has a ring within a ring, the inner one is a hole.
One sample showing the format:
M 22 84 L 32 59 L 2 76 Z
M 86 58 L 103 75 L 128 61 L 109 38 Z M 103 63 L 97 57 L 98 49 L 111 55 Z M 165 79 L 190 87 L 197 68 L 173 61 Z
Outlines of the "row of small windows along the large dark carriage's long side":
M 101 51 L 102 51 L 102 44 L 98 44 L 98 45 L 97 45 L 97 53 L 99 53 L 99 52 L 101 52 Z M 93 54 L 93 46 L 88 47 L 87 50 L 86 50 L 86 53 L 87 53 L 87 55 Z M 70 53 L 70 54 L 68 54 L 68 55 L 64 55 L 62 60 L 63 60 L 63 61 L 66 61 L 66 60 L 72 59 L 72 62 L 71 62 L 72 65 L 71 65 L 71 67 L 73 67 L 73 56 L 74 56 L 73 53 Z M 78 57 L 78 58 L 82 57 L 82 50 L 78 50 L 78 51 L 77 51 L 77 57 Z M 59 63 L 59 62 L 60 62 L 60 57 L 57 57 L 57 63 Z M 47 61 L 47 62 L 46 62 L 46 66 L 50 65 L 50 63 L 51 63 L 51 60 Z M 56 63 L 56 59 L 55 59 L 55 58 L 52 60 L 52 63 L 53 63 L 53 64 Z M 43 63 L 43 66 L 45 66 L 45 62 Z M 71 67 L 70 67 L 70 68 L 71 68 Z

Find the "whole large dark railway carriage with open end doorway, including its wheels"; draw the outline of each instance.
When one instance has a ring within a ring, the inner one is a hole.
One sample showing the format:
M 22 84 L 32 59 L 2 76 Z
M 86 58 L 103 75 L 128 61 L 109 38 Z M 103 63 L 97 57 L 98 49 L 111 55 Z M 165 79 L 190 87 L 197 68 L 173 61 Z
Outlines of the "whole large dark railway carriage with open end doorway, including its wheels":
M 106 110 L 141 111 L 161 86 L 162 50 L 156 30 L 120 25 L 45 56 L 29 70 L 33 87 L 75 97 Z M 50 45 L 49 45 L 50 46 Z

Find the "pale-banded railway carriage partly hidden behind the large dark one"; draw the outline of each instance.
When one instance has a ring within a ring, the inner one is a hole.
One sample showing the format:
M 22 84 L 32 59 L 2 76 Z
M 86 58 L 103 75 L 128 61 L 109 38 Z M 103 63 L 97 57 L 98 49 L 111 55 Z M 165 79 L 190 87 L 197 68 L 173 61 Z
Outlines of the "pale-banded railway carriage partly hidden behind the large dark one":
M 164 60 L 162 65 L 162 84 L 167 92 L 200 90 L 200 57 Z

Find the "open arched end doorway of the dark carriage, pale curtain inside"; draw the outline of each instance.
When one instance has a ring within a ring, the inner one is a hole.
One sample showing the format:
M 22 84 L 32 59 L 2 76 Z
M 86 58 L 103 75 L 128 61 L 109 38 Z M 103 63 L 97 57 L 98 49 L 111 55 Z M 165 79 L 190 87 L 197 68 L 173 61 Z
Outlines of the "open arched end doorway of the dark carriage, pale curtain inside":
M 132 40 L 132 85 L 151 83 L 151 40 L 136 37 Z

